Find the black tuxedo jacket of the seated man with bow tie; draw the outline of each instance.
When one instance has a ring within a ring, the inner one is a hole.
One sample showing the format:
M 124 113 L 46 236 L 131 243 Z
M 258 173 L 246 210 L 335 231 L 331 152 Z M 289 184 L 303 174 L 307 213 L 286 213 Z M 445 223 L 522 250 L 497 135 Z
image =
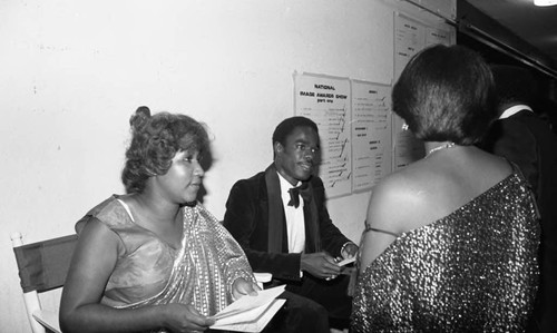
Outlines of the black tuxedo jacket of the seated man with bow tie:
M 339 256 L 342 245 L 350 239 L 329 217 L 323 182 L 312 176 L 309 186 L 312 199 L 304 203 L 304 252 L 325 251 Z M 274 165 L 234 184 L 223 224 L 244 248 L 254 272 L 272 273 L 277 280 L 301 280 L 301 254 L 289 253 L 286 222 Z

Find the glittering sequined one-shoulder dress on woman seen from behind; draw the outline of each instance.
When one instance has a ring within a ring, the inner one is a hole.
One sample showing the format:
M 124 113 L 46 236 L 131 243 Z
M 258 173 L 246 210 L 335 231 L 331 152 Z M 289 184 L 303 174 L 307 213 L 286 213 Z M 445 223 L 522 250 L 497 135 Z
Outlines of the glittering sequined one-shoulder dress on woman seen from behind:
M 520 332 L 538 285 L 538 216 L 517 174 L 400 235 L 359 276 L 351 332 Z

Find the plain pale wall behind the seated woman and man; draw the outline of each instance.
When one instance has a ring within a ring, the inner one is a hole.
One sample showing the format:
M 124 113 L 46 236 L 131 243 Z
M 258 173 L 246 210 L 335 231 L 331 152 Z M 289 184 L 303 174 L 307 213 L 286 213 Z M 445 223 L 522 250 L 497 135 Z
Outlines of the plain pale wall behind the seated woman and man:
M 123 193 L 137 106 L 211 127 L 205 205 L 222 218 L 234 182 L 272 160 L 271 134 L 294 112 L 295 70 L 390 84 L 387 4 L 0 1 L 0 331 L 30 331 L 10 234 L 33 242 L 72 233 L 88 208 Z M 368 198 L 329 202 L 333 221 L 356 242 Z

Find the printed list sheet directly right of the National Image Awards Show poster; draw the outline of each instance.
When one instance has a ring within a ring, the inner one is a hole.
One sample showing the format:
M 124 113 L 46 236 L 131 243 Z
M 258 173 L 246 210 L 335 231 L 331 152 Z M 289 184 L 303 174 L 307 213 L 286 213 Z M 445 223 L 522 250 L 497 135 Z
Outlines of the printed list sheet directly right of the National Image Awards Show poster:
M 371 189 L 392 170 L 391 86 L 352 80 L 352 190 Z

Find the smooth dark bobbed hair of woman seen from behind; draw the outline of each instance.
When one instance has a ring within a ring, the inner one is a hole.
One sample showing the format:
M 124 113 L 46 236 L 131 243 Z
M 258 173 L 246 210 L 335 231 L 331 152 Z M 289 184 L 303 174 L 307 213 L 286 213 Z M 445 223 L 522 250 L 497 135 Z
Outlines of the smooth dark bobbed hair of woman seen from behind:
M 417 53 L 392 90 L 393 111 L 424 141 L 473 145 L 496 118 L 489 66 L 461 46 Z

